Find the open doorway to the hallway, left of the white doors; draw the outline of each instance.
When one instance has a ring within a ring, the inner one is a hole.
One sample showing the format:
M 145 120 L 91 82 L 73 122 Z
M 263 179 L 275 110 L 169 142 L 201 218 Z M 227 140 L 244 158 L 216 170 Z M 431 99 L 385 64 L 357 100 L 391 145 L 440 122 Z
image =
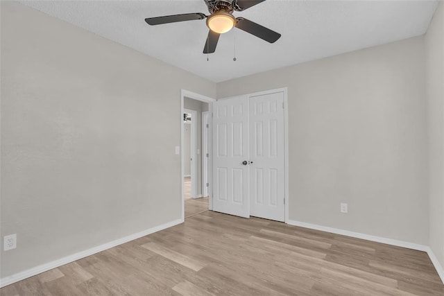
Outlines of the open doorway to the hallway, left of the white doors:
M 185 93 L 185 94 L 184 94 Z M 182 92 L 182 218 L 211 209 L 212 98 Z

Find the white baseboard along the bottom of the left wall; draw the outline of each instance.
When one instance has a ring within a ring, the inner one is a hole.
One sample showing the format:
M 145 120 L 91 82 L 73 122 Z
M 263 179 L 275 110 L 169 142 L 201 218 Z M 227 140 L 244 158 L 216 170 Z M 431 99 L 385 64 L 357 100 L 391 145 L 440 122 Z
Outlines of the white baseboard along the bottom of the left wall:
M 42 265 L 35 266 L 34 268 L 30 268 L 28 270 L 18 272 L 15 275 L 3 277 L 0 279 L 0 288 L 2 288 L 4 286 L 8 286 L 10 284 L 14 284 L 17 281 L 22 281 L 22 279 L 26 279 L 28 277 L 33 277 L 34 275 L 38 275 L 39 273 L 45 272 L 47 270 L 51 270 L 53 268 L 58 268 L 61 265 L 65 265 L 67 263 L 71 263 L 73 261 L 83 259 L 87 256 L 91 256 L 93 254 L 102 252 L 104 250 L 108 250 L 111 247 L 115 247 L 115 246 L 121 245 L 123 243 L 128 243 L 128 241 L 133 241 L 137 238 L 141 238 L 142 236 L 147 236 L 148 234 L 153 234 L 154 232 L 159 232 L 160 230 L 167 229 L 169 227 L 173 227 L 174 225 L 178 225 L 182 222 L 183 222 L 182 219 L 173 220 L 169 223 L 164 223 L 162 225 L 158 225 L 156 227 L 146 229 L 143 232 L 137 232 L 136 234 L 131 234 L 130 236 L 125 236 L 125 237 L 119 238 L 115 241 L 110 241 L 109 243 L 105 243 L 103 245 L 98 245 L 96 247 L 92 247 L 91 249 L 88 249 L 88 250 L 85 250 L 82 252 L 78 252 L 76 254 L 71 254 L 69 256 L 60 258 L 55 261 L 51 261 L 49 263 L 44 263 Z

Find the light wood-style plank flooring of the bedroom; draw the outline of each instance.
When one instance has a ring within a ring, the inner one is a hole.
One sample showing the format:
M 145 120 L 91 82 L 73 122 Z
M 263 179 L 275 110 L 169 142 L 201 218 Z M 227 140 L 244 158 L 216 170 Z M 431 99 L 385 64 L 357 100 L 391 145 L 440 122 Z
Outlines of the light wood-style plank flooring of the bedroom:
M 425 252 L 204 211 L 1 295 L 444 295 Z

